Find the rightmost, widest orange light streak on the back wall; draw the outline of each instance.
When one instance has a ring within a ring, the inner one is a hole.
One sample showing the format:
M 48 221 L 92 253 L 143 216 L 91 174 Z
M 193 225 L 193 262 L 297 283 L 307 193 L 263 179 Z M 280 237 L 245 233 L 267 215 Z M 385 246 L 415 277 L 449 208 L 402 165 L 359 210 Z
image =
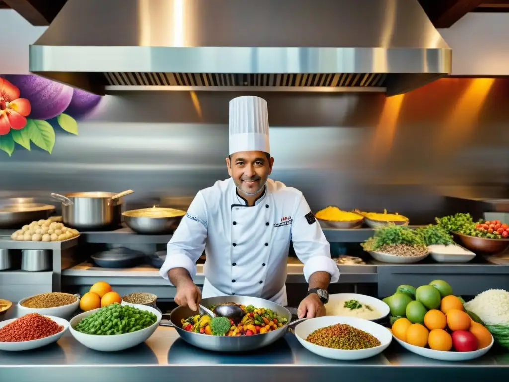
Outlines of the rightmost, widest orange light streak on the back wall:
M 469 86 L 459 97 L 438 136 L 437 146 L 439 148 L 461 146 L 470 138 L 479 111 L 494 81 L 494 78 L 471 79 Z

